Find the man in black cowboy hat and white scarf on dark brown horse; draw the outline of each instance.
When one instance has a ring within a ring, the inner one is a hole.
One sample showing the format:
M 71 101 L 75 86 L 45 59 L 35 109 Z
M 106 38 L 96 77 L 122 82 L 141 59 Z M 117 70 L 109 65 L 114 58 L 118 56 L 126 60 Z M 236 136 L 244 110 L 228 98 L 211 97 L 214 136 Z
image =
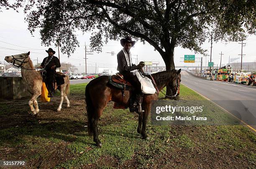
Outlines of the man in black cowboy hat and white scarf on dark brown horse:
M 134 93 L 136 96 L 133 95 L 133 101 L 131 102 L 131 108 L 130 111 L 138 112 L 138 101 L 142 96 L 141 92 L 141 83 L 138 81 L 137 76 L 134 76 L 131 71 L 134 71 L 136 69 L 141 69 L 144 67 L 143 63 L 139 63 L 137 66 L 132 63 L 131 61 L 131 47 L 134 46 L 135 41 L 131 39 L 131 37 L 126 37 L 125 39 L 120 40 L 121 45 L 123 46 L 123 49 L 118 53 L 117 59 L 118 59 L 118 68 L 117 70 L 123 75 L 124 79 L 129 81 L 133 87 L 135 88 Z

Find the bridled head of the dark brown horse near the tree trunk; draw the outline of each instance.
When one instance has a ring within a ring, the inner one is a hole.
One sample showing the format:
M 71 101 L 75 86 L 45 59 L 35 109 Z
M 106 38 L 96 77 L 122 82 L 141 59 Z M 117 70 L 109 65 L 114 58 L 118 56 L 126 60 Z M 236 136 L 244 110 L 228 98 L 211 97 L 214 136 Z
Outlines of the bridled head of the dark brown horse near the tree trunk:
M 181 69 L 174 70 L 174 74 L 172 75 L 172 80 L 169 82 L 169 88 L 171 90 L 171 96 L 176 97 L 179 96 L 179 86 L 181 82 Z

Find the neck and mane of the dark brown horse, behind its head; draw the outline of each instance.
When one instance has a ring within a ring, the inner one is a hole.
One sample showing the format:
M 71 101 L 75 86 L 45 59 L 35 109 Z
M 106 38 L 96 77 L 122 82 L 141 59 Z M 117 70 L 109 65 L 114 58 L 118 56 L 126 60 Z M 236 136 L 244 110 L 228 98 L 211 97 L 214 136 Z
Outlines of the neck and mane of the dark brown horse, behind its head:
M 151 74 L 151 76 L 156 81 L 157 86 L 162 86 L 166 81 L 168 81 L 170 78 L 172 78 L 176 73 L 175 69 L 169 70 L 169 71 L 162 71 Z M 149 76 L 149 75 L 148 75 Z M 150 78 L 150 77 L 148 77 Z

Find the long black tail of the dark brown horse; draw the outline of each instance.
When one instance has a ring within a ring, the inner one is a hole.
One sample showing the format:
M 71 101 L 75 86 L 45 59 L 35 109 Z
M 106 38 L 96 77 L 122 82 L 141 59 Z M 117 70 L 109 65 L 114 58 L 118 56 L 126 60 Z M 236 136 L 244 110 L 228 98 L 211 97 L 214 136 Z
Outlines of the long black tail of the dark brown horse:
M 85 102 L 86 102 L 86 110 L 87 110 L 87 120 L 88 120 L 88 124 L 87 124 L 87 128 L 88 128 L 88 134 L 89 136 L 92 136 L 92 113 L 93 113 L 93 105 L 92 105 L 92 99 L 90 97 L 90 83 L 87 84 L 87 86 L 85 87 Z

